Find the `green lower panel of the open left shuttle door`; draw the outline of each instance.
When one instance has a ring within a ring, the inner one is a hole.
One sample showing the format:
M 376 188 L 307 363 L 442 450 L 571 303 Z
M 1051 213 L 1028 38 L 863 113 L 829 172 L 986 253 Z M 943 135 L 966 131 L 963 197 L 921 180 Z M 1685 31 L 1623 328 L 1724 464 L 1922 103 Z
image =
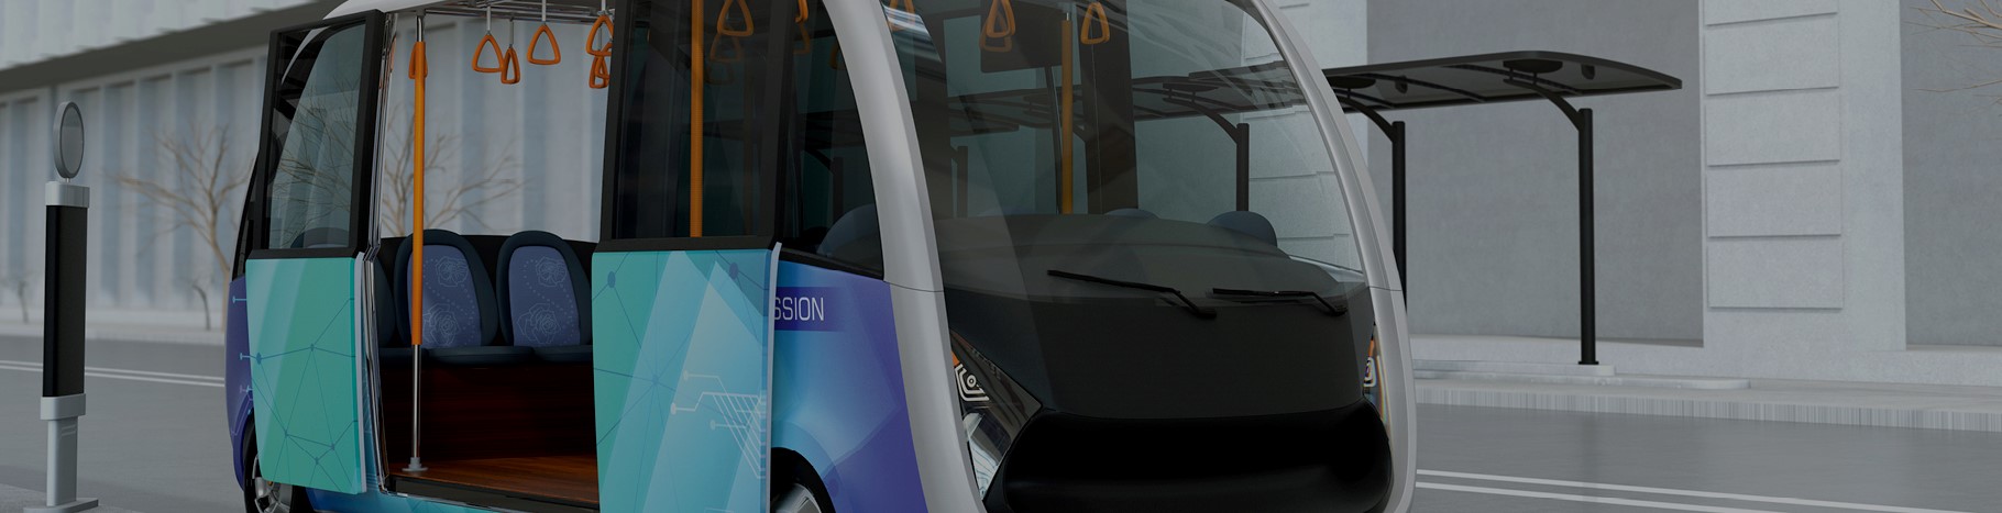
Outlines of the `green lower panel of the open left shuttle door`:
M 250 259 L 244 269 L 264 477 L 360 493 L 354 259 Z

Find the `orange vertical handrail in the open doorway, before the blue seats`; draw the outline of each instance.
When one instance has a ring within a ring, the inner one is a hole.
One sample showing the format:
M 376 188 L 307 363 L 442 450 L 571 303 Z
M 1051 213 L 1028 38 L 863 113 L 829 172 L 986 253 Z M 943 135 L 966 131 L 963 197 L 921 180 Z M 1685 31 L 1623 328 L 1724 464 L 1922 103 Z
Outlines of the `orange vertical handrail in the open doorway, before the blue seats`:
M 414 84 L 410 108 L 410 465 L 406 471 L 424 471 L 418 453 L 422 431 L 418 421 L 418 389 L 424 383 L 424 78 L 430 76 L 430 60 L 424 56 L 424 14 L 416 14 L 416 42 L 410 46 L 410 80 Z

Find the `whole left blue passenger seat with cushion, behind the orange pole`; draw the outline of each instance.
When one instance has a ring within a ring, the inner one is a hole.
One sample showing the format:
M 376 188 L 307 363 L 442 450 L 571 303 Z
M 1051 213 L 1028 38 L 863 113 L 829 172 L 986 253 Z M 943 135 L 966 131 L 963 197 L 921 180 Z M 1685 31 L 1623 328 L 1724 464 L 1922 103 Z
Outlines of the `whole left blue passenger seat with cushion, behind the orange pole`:
M 410 333 L 410 240 L 396 250 L 394 315 Z M 507 365 L 533 357 L 529 347 L 503 345 L 492 279 L 480 254 L 458 234 L 424 230 L 424 359 L 444 365 Z

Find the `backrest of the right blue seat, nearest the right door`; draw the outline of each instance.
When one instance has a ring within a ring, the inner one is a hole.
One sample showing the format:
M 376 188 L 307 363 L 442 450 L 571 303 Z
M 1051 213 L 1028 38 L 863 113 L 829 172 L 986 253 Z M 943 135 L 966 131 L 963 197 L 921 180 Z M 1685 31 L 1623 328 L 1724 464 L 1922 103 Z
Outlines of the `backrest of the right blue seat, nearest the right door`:
M 500 244 L 500 335 L 515 345 L 589 345 L 591 277 L 577 252 L 549 232 L 521 232 Z

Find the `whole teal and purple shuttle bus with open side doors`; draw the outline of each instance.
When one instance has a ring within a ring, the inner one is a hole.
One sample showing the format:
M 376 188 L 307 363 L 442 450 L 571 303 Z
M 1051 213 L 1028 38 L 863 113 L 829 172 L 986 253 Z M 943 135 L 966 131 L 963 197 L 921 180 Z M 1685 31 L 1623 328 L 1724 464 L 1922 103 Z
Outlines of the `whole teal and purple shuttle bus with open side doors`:
M 1265 0 L 276 30 L 230 285 L 244 505 L 1403 511 L 1403 299 L 1303 48 Z M 446 130 L 545 134 L 527 188 Z

